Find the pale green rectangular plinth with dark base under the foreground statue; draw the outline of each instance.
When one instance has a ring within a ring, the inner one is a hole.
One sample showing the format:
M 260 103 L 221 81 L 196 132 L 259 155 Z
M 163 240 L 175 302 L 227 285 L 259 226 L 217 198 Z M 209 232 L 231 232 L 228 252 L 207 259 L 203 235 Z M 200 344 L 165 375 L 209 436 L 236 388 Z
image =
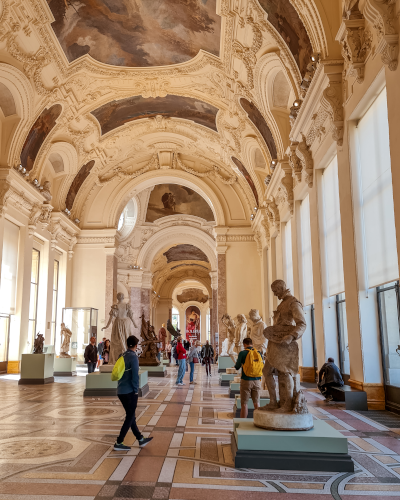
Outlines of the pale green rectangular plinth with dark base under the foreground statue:
M 347 438 L 323 420 L 309 431 L 268 431 L 236 418 L 233 429 L 236 468 L 354 472 Z

